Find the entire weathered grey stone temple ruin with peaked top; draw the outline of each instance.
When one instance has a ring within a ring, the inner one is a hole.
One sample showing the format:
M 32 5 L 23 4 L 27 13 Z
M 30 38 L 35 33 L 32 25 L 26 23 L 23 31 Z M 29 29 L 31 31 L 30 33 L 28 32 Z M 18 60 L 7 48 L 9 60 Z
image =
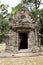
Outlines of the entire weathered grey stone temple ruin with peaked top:
M 12 17 L 10 30 L 7 34 L 6 51 L 38 52 L 37 21 L 28 8 L 21 7 Z

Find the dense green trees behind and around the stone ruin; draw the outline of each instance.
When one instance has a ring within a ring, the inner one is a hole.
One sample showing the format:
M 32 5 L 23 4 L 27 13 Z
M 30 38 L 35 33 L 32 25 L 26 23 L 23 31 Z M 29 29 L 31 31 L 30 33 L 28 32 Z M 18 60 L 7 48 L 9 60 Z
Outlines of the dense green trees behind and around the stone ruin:
M 16 7 L 12 7 L 11 13 L 8 13 L 8 5 L 0 4 L 0 42 L 5 38 L 5 33 L 9 30 L 9 22 L 13 14 L 15 14 L 23 5 L 30 7 L 30 12 L 38 20 L 38 30 L 43 43 L 43 9 L 39 9 L 41 0 L 21 0 Z

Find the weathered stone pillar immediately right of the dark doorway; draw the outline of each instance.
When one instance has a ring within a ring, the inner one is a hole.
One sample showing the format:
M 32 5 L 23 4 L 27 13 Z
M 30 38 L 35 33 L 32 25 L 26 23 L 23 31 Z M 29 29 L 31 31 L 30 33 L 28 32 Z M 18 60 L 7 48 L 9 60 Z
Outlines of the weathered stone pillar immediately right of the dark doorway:
M 35 45 L 34 31 L 30 31 L 28 34 L 28 48 L 32 48 Z

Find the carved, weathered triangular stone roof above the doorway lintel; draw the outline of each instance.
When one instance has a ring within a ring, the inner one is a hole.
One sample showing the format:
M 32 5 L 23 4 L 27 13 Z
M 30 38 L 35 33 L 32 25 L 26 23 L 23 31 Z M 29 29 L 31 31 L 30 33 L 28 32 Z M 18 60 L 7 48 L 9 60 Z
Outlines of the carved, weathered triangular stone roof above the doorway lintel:
M 13 28 L 35 28 L 35 19 L 25 6 L 21 7 L 12 17 L 10 25 Z

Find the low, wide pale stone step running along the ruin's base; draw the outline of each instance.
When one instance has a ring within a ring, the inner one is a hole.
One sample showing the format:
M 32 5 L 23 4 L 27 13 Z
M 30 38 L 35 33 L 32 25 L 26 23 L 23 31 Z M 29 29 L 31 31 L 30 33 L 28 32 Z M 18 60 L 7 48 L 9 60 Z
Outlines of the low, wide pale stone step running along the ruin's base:
M 38 53 L 8 53 L 8 52 L 0 52 L 0 58 L 2 57 L 30 57 L 30 56 L 43 56 L 43 52 L 38 52 Z

